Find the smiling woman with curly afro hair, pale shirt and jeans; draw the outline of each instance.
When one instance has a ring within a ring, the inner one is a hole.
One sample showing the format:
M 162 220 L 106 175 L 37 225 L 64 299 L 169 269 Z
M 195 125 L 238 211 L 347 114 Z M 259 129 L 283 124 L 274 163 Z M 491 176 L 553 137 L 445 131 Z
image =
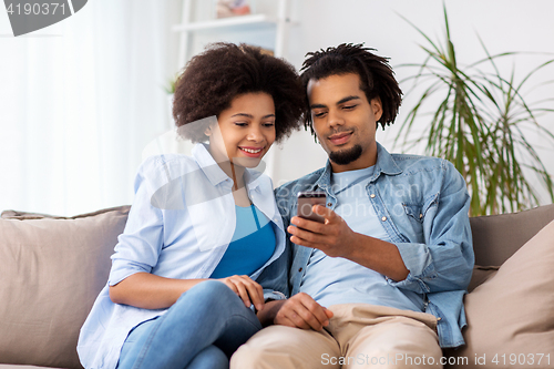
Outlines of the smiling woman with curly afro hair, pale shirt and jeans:
M 285 232 L 270 180 L 253 168 L 298 127 L 302 99 L 295 69 L 257 48 L 217 43 L 191 60 L 173 114 L 199 144 L 141 165 L 107 286 L 81 329 L 85 368 L 227 368 L 261 328 L 254 310 L 286 289 L 270 271 Z

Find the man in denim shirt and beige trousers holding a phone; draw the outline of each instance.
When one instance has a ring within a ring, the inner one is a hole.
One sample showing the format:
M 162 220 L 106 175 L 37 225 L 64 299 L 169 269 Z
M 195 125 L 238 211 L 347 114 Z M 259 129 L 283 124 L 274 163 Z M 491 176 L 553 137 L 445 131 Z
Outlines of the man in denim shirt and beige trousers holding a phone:
M 474 263 L 465 183 L 444 160 L 389 154 L 376 141 L 401 90 L 387 59 L 362 45 L 308 54 L 306 124 L 327 165 L 276 189 L 291 247 L 288 300 L 232 368 L 441 367 L 463 345 Z M 295 216 L 299 191 L 324 191 L 325 224 Z

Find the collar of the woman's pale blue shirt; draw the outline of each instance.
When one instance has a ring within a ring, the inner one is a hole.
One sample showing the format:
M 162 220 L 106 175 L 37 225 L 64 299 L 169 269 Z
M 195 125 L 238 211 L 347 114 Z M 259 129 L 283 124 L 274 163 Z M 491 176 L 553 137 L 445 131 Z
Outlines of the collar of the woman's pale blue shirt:
M 205 143 L 198 143 L 192 150 L 192 155 L 201 170 L 204 172 L 209 183 L 213 186 L 217 186 L 220 183 L 230 180 L 227 174 L 222 170 L 222 167 L 216 163 L 208 150 L 209 145 Z M 261 172 L 246 168 L 245 171 L 245 183 L 248 189 L 255 189 L 259 186 L 259 176 Z

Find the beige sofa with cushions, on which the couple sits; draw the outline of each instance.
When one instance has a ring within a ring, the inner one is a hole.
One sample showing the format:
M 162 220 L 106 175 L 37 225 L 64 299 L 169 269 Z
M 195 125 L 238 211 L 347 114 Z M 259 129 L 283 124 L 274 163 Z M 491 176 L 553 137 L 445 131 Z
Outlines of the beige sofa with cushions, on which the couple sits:
M 0 219 L 0 369 L 81 368 L 79 329 L 107 280 L 129 206 Z M 554 204 L 471 218 L 466 345 L 447 368 L 554 368 Z

